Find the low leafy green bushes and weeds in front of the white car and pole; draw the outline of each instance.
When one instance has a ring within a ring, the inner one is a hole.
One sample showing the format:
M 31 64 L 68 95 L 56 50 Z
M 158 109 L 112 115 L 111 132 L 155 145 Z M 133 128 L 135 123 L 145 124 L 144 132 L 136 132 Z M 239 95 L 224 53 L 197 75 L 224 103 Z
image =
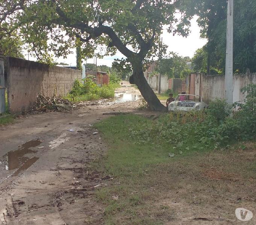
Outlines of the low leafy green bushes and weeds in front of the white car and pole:
M 247 93 L 240 110 L 229 117 L 231 107 L 221 99 L 209 104 L 206 111 L 189 111 L 185 115 L 165 114 L 141 128 L 130 129 L 130 137 L 137 142 L 164 141 L 174 145 L 173 151 L 211 150 L 227 147 L 238 140 L 256 137 L 256 85 L 243 88 Z

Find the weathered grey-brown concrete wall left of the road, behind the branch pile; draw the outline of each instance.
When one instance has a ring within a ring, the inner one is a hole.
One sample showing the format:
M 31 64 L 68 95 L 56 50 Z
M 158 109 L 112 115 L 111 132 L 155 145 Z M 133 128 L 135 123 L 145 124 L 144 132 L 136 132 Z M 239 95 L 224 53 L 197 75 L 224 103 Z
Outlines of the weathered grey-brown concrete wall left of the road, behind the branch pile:
M 21 113 L 35 103 L 38 93 L 44 96 L 67 95 L 82 71 L 7 57 L 7 86 L 9 110 Z

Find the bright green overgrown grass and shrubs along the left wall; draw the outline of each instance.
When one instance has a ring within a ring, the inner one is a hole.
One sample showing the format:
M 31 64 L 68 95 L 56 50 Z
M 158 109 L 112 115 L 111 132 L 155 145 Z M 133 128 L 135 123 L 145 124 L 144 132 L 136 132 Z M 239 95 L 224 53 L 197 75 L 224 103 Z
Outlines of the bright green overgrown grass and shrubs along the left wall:
M 110 83 L 103 85 L 103 87 L 98 87 L 90 78 L 85 79 L 83 84 L 76 80 L 71 93 L 64 98 L 74 103 L 114 98 L 115 89 L 118 87 L 120 87 L 118 83 Z

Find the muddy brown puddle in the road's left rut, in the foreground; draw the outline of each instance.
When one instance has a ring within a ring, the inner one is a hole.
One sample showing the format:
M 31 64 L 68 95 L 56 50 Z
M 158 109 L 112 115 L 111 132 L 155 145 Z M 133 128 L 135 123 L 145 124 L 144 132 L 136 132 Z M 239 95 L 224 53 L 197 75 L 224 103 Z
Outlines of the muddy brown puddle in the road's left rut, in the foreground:
M 37 151 L 31 150 L 31 147 L 36 147 L 42 142 L 39 140 L 32 140 L 24 143 L 21 147 L 15 151 L 9 151 L 4 156 L 0 158 L 0 170 L 13 170 L 15 171 L 13 175 L 17 175 L 20 171 L 29 168 L 33 163 L 38 160 L 37 157 L 29 159 L 25 155 L 28 153 L 36 153 Z

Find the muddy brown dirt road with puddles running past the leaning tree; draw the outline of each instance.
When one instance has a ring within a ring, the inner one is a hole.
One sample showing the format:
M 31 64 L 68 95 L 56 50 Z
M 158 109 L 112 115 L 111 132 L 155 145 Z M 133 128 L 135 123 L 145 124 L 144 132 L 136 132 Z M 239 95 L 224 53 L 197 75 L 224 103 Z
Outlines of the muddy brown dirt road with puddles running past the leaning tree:
M 135 94 L 135 95 L 122 95 Z M 136 111 L 138 90 L 123 82 L 116 102 L 71 113 L 27 115 L 0 127 L 0 224 L 102 223 L 91 194 L 106 185 L 87 163 L 106 145 L 92 126 L 105 112 Z

